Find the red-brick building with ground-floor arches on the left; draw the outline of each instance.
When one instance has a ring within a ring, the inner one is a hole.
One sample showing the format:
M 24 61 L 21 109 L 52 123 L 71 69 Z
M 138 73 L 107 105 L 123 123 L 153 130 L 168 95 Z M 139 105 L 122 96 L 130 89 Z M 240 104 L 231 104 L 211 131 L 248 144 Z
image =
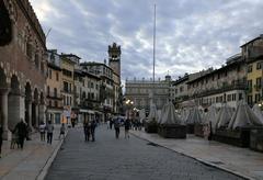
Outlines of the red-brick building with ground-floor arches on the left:
M 4 138 L 45 120 L 46 38 L 27 0 L 0 1 L 0 112 Z

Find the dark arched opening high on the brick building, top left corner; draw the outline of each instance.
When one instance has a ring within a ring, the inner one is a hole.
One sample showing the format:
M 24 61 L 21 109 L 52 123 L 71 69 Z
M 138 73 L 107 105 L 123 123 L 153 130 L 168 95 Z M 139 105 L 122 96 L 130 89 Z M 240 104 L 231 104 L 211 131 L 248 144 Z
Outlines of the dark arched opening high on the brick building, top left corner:
M 0 46 L 7 45 L 12 41 L 12 22 L 9 12 L 0 0 Z

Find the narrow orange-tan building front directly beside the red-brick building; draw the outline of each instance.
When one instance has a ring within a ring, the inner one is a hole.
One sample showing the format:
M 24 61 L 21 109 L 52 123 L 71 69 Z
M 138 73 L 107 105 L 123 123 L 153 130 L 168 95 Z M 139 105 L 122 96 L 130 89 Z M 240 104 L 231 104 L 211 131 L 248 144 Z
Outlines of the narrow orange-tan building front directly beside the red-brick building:
M 47 50 L 47 114 L 48 120 L 53 123 L 59 124 L 62 119 L 62 95 L 61 95 L 61 70 L 60 56 L 57 50 Z

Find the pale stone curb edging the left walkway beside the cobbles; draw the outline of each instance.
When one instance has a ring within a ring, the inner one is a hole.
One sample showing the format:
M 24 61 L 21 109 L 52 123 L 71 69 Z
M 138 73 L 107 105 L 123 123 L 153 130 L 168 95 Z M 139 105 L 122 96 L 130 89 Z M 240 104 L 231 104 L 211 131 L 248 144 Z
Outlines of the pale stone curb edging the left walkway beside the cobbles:
M 42 168 L 42 170 L 39 171 L 39 173 L 35 178 L 36 180 L 44 180 L 45 179 L 45 177 L 48 172 L 48 169 L 50 168 L 54 159 L 56 158 L 56 156 L 58 154 L 58 150 L 60 149 L 61 145 L 64 144 L 64 140 L 66 139 L 66 137 L 68 135 L 68 132 L 69 131 L 66 132 L 65 138 L 62 138 L 62 140 L 58 143 L 58 146 L 53 150 L 52 155 L 48 157 L 45 166 Z

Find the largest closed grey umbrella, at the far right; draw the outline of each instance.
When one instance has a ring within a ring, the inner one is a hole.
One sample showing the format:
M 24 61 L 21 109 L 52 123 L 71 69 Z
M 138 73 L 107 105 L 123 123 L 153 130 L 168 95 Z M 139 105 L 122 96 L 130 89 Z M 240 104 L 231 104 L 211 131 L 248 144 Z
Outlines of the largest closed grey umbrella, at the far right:
M 253 125 L 263 125 L 259 117 L 254 114 L 247 102 L 242 101 L 238 104 L 238 110 L 233 114 L 228 128 L 236 130 L 238 127 L 248 127 Z

